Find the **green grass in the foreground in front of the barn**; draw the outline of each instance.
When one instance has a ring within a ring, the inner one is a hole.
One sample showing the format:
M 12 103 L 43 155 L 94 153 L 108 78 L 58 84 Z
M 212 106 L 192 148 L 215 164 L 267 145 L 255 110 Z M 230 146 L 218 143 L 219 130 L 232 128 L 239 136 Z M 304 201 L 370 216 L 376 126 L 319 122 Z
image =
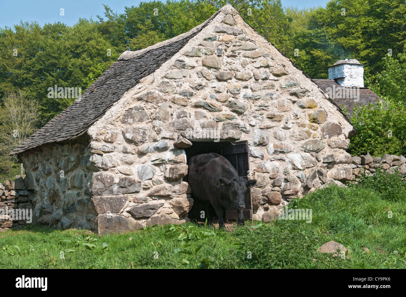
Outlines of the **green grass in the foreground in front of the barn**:
M 0 234 L 0 268 L 406 268 L 405 199 L 333 186 L 289 208 L 312 209 L 312 223 L 253 222 L 234 231 L 186 223 L 100 238 L 28 226 Z M 320 254 L 330 240 L 348 248 L 350 259 Z

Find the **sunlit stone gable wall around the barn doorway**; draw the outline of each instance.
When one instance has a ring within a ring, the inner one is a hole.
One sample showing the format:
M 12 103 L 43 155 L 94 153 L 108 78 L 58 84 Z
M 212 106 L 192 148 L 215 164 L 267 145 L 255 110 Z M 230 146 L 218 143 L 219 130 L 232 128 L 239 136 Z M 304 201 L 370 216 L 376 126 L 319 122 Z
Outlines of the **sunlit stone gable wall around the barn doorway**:
M 352 126 L 239 15 L 222 12 L 89 128 L 99 234 L 187 220 L 182 148 L 199 129 L 248 141 L 254 219 L 353 178 Z

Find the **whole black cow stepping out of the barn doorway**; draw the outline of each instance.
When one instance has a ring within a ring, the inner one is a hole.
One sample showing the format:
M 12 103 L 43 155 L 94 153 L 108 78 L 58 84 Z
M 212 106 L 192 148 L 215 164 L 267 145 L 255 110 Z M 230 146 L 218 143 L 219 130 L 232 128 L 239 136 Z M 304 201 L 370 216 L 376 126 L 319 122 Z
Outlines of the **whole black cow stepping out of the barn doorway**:
M 245 180 L 226 158 L 209 153 L 190 158 L 188 183 L 194 197 L 213 205 L 220 228 L 224 227 L 225 209 L 237 209 L 238 225 L 244 224 L 245 193 L 257 183 L 256 179 Z

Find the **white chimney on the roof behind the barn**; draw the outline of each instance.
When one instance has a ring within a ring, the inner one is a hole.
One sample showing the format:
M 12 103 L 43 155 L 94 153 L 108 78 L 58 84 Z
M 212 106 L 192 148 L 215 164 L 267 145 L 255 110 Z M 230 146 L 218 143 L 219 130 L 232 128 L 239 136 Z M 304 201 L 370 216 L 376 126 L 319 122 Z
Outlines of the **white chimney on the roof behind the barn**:
M 364 87 L 364 64 L 355 59 L 338 60 L 328 67 L 328 78 L 343 87 Z

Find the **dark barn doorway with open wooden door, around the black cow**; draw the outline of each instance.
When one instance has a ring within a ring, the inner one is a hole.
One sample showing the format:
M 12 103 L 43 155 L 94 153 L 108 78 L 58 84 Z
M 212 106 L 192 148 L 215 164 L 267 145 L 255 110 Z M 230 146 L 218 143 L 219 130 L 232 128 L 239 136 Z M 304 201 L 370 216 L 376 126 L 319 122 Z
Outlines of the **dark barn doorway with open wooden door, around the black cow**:
M 187 164 L 192 156 L 207 153 L 216 153 L 224 156 L 231 165 L 237 170 L 239 176 L 248 179 L 249 162 L 248 162 L 248 142 L 214 142 L 214 141 L 192 141 L 192 146 L 185 149 Z M 184 178 L 188 181 L 188 175 Z M 193 195 L 193 207 L 190 209 L 188 217 L 190 220 L 197 222 L 204 222 L 205 218 L 201 218 L 201 211 L 203 210 L 209 220 L 217 220 L 216 212 L 209 201 L 201 201 Z M 251 189 L 249 189 L 245 196 L 245 209 L 243 210 L 244 219 L 252 220 L 252 202 L 251 202 Z M 233 221 L 238 219 L 238 212 L 236 209 L 226 209 L 225 220 Z

